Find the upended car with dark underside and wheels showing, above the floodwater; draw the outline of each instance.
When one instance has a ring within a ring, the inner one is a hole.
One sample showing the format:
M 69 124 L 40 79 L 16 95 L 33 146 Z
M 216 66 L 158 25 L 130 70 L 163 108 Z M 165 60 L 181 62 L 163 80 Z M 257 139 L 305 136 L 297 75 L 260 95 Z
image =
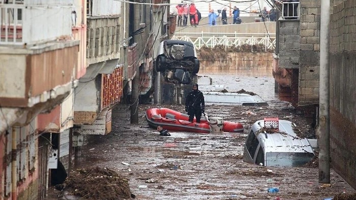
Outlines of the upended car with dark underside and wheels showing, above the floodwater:
M 161 72 L 167 82 L 190 84 L 199 68 L 196 50 L 191 42 L 165 40 L 160 43 L 155 71 Z

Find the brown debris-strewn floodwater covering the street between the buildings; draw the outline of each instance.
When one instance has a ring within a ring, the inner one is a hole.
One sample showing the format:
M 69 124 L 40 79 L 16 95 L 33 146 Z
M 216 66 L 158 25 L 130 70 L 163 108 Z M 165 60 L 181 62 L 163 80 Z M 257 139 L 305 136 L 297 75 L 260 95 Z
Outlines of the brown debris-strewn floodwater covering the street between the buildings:
M 251 125 L 264 117 L 294 122 L 306 137 L 315 138 L 312 120 L 274 93 L 272 69 L 234 72 L 199 72 L 228 91 L 245 89 L 260 95 L 269 106 L 206 106 L 206 113 L 240 122 L 243 133 L 197 134 L 173 132 L 159 136 L 148 126 L 145 111 L 155 106 L 184 112 L 183 105 L 139 105 L 139 123 L 130 124 L 129 105 L 112 112 L 112 131 L 87 137 L 76 168 L 98 166 L 129 179 L 136 199 L 324 199 L 339 193 L 354 194 L 331 169 L 331 183 L 318 183 L 318 160 L 301 167 L 265 167 L 243 161 L 244 144 Z M 213 89 L 201 85 L 200 90 Z M 278 188 L 269 193 L 269 188 Z M 50 188 L 51 193 L 55 193 Z M 53 198 L 48 199 L 55 199 Z M 84 199 L 84 198 L 80 198 Z M 102 199 L 105 199 L 103 197 Z M 346 199 L 346 198 L 345 198 Z

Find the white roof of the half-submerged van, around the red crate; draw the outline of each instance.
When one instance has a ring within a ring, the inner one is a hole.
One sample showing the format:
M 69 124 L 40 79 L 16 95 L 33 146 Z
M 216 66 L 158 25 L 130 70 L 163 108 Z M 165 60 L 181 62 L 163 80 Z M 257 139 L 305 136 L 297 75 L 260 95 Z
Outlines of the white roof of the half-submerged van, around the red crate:
M 293 131 L 295 124 L 287 120 L 279 120 L 279 129 L 274 133 L 264 133 L 264 120 L 258 120 L 252 125 L 252 130 L 258 138 L 264 152 L 310 152 L 313 149 L 306 138 L 299 138 Z

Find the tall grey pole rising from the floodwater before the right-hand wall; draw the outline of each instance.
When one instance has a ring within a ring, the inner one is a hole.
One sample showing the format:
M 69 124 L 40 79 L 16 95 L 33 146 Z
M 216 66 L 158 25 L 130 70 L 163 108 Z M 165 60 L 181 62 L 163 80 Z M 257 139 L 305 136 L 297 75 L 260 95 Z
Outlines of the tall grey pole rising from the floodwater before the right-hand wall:
M 330 183 L 330 1 L 321 0 L 320 7 L 319 183 Z

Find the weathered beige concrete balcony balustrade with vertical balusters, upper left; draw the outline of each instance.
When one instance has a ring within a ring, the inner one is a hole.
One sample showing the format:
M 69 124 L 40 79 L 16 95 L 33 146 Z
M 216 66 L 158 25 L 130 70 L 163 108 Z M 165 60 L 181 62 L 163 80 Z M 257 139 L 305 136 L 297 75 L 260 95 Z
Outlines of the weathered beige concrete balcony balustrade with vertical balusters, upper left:
M 120 17 L 88 17 L 86 64 L 120 57 Z

